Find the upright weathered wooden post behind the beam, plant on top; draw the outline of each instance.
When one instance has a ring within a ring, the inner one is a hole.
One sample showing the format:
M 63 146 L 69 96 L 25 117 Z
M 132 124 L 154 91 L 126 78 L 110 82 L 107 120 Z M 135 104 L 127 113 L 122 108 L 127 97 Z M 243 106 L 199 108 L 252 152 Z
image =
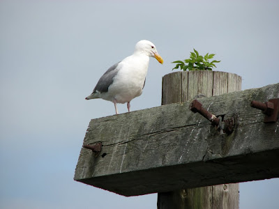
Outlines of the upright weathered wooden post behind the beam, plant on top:
M 162 105 L 241 91 L 241 77 L 218 71 L 174 72 L 163 77 Z M 158 193 L 158 209 L 239 208 L 239 184 L 215 185 Z

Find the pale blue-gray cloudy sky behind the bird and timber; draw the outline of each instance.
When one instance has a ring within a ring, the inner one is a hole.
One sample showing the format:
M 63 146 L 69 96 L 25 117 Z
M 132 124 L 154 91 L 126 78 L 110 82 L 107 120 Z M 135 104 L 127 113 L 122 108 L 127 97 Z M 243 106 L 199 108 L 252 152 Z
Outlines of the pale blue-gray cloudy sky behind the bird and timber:
M 279 82 L 279 1 L 0 1 L 0 208 L 156 208 L 73 180 L 91 118 L 112 102 L 84 98 L 114 63 L 151 40 L 144 92 L 160 105 L 162 77 L 193 48 L 216 54 L 242 88 Z M 118 105 L 126 112 L 126 105 Z M 240 208 L 277 208 L 278 178 L 240 185 Z

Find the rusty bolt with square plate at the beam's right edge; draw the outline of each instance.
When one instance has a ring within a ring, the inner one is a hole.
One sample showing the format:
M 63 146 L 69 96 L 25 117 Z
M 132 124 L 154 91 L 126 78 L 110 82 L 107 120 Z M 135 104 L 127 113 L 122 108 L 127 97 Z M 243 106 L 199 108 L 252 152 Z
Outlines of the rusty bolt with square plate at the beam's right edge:
M 275 123 L 278 121 L 279 98 L 264 103 L 252 100 L 250 106 L 262 110 L 262 113 L 266 115 L 264 123 Z

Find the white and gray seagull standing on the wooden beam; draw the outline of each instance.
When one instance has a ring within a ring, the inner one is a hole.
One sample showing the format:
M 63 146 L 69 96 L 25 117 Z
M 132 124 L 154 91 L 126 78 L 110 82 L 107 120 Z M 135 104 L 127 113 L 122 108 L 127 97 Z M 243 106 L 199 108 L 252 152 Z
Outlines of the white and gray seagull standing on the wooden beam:
M 85 99 L 101 98 L 113 102 L 116 114 L 118 114 L 116 104 L 127 102 L 128 112 L 130 112 L 130 101 L 142 94 L 149 67 L 149 57 L 154 57 L 163 64 L 163 59 L 158 54 L 155 45 L 149 40 L 140 40 L 135 45 L 134 53 L 112 65 L 100 77 L 91 95 Z

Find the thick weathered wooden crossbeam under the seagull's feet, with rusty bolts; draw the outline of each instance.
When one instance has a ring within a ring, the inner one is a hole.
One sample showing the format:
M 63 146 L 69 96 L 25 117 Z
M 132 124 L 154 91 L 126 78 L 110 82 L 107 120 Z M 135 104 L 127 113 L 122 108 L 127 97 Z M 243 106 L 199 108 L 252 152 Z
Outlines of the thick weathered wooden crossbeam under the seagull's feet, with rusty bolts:
M 279 177 L 279 123 L 263 123 L 252 100 L 279 98 L 279 84 L 199 99 L 225 119 L 219 132 L 190 102 L 91 120 L 84 144 L 101 142 L 96 156 L 82 148 L 75 180 L 124 196 Z

